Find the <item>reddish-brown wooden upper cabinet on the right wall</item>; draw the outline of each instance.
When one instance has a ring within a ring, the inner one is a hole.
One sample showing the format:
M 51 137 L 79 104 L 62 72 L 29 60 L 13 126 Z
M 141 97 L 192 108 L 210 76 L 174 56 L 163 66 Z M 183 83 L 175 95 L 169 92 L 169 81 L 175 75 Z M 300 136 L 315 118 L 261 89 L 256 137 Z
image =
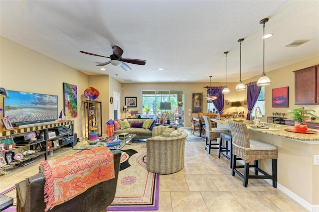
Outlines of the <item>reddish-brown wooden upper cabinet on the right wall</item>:
M 319 104 L 319 65 L 295 71 L 295 105 Z

